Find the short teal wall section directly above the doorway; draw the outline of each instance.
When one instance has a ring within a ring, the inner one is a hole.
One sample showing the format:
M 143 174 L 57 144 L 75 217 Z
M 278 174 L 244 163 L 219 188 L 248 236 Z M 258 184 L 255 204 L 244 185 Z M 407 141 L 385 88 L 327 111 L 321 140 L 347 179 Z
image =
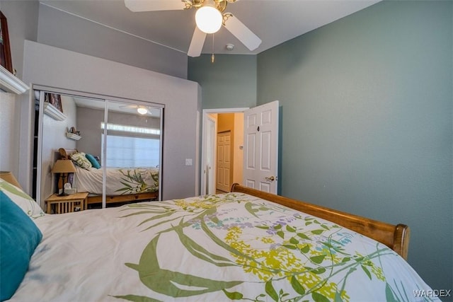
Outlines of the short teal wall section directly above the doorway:
M 210 54 L 189 57 L 188 79 L 200 83 L 202 109 L 256 105 L 256 56 Z

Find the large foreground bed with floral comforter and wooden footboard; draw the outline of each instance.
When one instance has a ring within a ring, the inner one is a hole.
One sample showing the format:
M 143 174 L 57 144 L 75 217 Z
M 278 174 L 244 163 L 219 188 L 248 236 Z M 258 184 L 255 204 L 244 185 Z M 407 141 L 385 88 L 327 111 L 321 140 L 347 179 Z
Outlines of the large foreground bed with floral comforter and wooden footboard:
M 33 222 L 11 301 L 439 301 L 405 260 L 407 226 L 236 184 Z

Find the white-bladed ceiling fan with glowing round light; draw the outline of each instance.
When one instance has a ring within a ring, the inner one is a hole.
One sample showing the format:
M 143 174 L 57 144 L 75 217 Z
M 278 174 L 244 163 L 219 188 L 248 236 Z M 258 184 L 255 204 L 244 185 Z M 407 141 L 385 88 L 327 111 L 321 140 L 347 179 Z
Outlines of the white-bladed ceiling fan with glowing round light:
M 190 42 L 188 56 L 199 57 L 208 33 L 216 33 L 222 25 L 248 50 L 256 50 L 260 38 L 252 33 L 232 13 L 225 13 L 226 5 L 238 0 L 125 0 L 130 11 L 172 11 L 195 8 L 195 31 Z

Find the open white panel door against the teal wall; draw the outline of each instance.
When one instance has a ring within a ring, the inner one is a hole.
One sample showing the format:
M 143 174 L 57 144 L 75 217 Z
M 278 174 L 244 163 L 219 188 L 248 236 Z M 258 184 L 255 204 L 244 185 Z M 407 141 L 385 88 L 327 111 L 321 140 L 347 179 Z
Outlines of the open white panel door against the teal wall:
M 244 112 L 243 185 L 277 194 L 278 100 Z

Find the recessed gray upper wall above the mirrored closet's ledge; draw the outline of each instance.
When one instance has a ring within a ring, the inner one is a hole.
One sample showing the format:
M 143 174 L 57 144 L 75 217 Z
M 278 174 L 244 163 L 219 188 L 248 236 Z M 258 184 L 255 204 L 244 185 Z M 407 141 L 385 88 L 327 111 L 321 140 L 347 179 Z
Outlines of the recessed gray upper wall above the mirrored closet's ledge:
M 38 40 L 170 76 L 187 79 L 187 54 L 40 4 Z

